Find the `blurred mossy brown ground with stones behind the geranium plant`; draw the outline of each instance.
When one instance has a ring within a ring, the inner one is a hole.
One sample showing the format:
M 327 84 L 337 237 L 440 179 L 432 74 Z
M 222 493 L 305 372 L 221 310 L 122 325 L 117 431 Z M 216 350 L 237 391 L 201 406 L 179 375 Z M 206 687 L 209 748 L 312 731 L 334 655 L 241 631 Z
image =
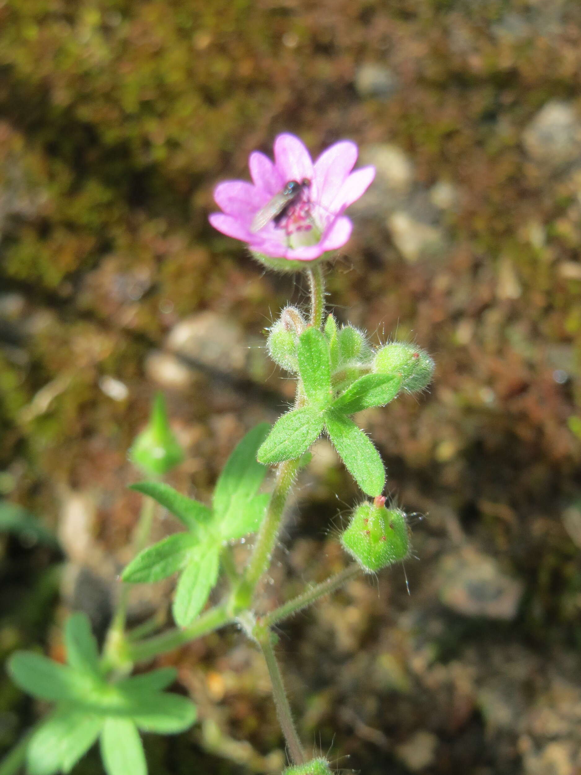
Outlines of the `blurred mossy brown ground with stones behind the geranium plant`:
M 2 656 L 62 658 L 71 608 L 104 632 L 156 391 L 202 500 L 293 394 L 263 329 L 304 282 L 212 231 L 212 189 L 281 131 L 350 138 L 377 177 L 330 305 L 437 370 L 361 416 L 418 560 L 281 629 L 301 735 L 365 775 L 581 772 L 580 86 L 575 0 L 0 0 Z M 320 441 L 265 608 L 342 567 L 359 498 Z M 161 662 L 202 723 L 146 739 L 153 772 L 280 770 L 239 633 Z M 0 678 L 3 749 L 42 712 Z

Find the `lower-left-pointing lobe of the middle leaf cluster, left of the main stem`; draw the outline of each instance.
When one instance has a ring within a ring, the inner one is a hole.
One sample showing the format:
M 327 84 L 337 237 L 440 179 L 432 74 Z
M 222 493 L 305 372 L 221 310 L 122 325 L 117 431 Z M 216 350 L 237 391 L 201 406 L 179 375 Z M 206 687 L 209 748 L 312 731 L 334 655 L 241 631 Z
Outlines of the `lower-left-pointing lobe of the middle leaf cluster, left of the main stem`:
M 122 580 L 129 584 L 150 584 L 153 581 L 171 576 L 180 570 L 187 559 L 187 554 L 194 546 L 199 546 L 200 539 L 194 533 L 174 533 L 159 543 L 143 549 L 122 573 Z

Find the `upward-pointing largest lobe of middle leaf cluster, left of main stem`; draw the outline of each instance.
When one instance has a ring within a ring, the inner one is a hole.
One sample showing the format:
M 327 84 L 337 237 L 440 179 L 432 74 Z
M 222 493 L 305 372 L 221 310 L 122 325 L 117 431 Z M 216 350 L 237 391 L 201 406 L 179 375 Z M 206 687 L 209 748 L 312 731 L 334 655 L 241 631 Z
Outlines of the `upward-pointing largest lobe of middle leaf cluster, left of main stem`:
M 232 508 L 238 511 L 239 501 L 249 501 L 258 492 L 266 467 L 257 462 L 256 453 L 269 429 L 267 422 L 256 425 L 229 456 L 214 491 L 214 512 L 218 518 L 228 519 Z

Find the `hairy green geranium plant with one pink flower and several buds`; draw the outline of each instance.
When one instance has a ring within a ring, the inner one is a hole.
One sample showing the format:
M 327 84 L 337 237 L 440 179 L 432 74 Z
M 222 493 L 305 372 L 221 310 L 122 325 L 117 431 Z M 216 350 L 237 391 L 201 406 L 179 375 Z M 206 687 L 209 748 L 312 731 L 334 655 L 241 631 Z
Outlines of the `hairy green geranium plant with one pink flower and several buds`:
M 434 363 L 410 343 L 374 348 L 366 334 L 325 314 L 324 262 L 349 239 L 345 208 L 373 181 L 373 167 L 352 171 L 354 143 L 342 141 L 312 162 L 297 137 L 274 143 L 274 162 L 262 153 L 249 159 L 253 183 L 219 184 L 221 213 L 210 216 L 216 229 L 241 239 L 268 267 L 302 271 L 311 290 L 310 308 L 285 308 L 273 323 L 267 346 L 273 360 L 294 376 L 293 408 L 272 428 L 251 429 L 218 477 L 211 503 L 175 491 L 162 478 L 182 460 L 163 398 L 153 405 L 150 424 L 129 456 L 146 475 L 133 485 L 143 494 L 135 530 L 135 556 L 122 574 L 122 594 L 105 645 L 98 651 L 88 618 L 75 613 L 64 631 L 67 664 L 31 652 L 14 653 L 9 672 L 34 697 L 54 703 L 53 711 L 11 754 L 29 775 L 68 773 L 98 741 L 108 775 L 145 775 L 140 732 L 177 734 L 196 720 L 194 704 L 166 691 L 176 680 L 167 668 L 143 672 L 156 656 L 178 649 L 208 632 L 238 625 L 260 648 L 270 673 L 273 699 L 287 743 L 287 775 L 322 775 L 328 761 L 315 757 L 297 735 L 275 653 L 273 625 L 332 593 L 359 574 L 375 574 L 410 552 L 406 515 L 390 506 L 383 490 L 380 453 L 356 422 L 363 409 L 382 407 L 403 392 L 422 391 Z M 266 615 L 256 613 L 260 582 L 277 546 L 291 487 L 305 453 L 324 433 L 363 491 L 340 540 L 346 567 L 339 574 L 287 601 Z M 273 471 L 270 491 L 266 475 Z M 149 544 L 154 508 L 175 515 L 183 530 Z M 232 558 L 232 543 L 254 536 L 246 567 Z M 147 634 L 126 627 L 130 584 L 153 584 L 177 577 L 172 611 L 177 627 Z M 208 605 L 212 591 L 218 601 Z M 139 667 L 139 674 L 133 672 Z

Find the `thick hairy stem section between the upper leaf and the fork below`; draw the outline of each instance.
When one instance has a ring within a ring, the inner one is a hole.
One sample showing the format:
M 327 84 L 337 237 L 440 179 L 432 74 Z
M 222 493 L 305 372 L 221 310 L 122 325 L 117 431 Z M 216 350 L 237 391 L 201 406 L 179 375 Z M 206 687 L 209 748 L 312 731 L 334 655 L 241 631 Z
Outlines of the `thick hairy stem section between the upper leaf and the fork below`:
M 258 538 L 254 545 L 253 556 L 246 566 L 240 593 L 243 598 L 252 600 L 256 585 L 260 581 L 263 573 L 270 565 L 270 558 L 273 553 L 274 545 L 277 543 L 280 521 L 283 517 L 284 506 L 287 503 L 288 493 L 293 484 L 294 477 L 299 467 L 298 460 L 286 460 L 280 463 L 277 470 L 277 479 L 274 483 L 272 497 L 266 516 L 258 532 Z

